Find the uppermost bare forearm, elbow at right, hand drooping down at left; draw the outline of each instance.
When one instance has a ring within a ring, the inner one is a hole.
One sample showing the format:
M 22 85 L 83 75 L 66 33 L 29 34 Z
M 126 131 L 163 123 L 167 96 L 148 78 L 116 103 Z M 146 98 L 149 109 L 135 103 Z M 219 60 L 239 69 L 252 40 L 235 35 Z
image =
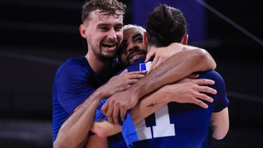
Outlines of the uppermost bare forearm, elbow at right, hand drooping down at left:
M 128 88 L 118 95 L 112 96 L 102 107 L 102 112 L 111 119 L 114 112 L 120 112 L 124 118 L 126 111 L 134 107 L 138 100 L 151 93 L 152 91 L 168 83 L 178 81 L 193 72 L 206 71 L 214 69 L 215 62 L 211 61 L 210 55 L 203 50 L 196 48 L 192 50 L 181 51 L 171 56 L 163 62 L 154 71 L 149 72 L 147 76 L 137 81 L 135 85 Z M 133 95 L 130 95 L 133 94 Z

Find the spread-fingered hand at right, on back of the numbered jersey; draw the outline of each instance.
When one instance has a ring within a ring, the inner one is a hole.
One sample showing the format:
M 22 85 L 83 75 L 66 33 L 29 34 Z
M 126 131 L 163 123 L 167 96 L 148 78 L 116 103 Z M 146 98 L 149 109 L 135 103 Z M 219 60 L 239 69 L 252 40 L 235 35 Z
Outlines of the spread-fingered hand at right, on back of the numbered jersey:
M 160 90 L 169 94 L 167 102 L 192 103 L 206 109 L 208 105 L 202 100 L 213 102 L 213 98 L 205 93 L 215 95 L 217 90 L 205 85 L 213 85 L 214 83 L 215 81 L 210 79 L 184 78 L 176 83 L 163 86 Z

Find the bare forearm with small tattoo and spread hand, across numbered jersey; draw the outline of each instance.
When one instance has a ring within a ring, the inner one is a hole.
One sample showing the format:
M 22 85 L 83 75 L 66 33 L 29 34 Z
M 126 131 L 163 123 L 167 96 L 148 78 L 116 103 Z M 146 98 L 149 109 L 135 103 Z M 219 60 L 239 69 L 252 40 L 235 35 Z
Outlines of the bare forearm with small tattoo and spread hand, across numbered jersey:
M 133 122 L 139 123 L 150 114 L 161 109 L 168 102 L 193 103 L 200 107 L 207 107 L 201 100 L 213 102 L 213 98 L 203 93 L 217 93 L 213 88 L 203 85 L 213 85 L 215 82 L 208 79 L 182 79 L 177 83 L 163 86 L 156 92 L 147 95 L 130 111 Z M 201 100 L 198 100 L 200 98 Z M 114 121 L 115 122 L 115 121 Z M 117 121 L 116 121 L 117 122 Z M 100 137 L 114 135 L 121 131 L 118 124 L 109 123 L 107 121 L 94 122 L 90 129 L 93 133 Z

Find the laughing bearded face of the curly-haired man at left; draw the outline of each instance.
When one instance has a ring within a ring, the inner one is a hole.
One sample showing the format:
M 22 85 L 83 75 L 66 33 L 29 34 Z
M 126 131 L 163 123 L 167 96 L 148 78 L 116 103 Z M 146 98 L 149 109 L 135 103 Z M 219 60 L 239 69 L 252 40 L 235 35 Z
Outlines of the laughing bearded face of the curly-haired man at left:
M 119 13 L 95 10 L 83 23 L 81 35 L 88 41 L 88 52 L 93 52 L 99 60 L 112 60 L 123 40 L 123 16 L 116 15 Z

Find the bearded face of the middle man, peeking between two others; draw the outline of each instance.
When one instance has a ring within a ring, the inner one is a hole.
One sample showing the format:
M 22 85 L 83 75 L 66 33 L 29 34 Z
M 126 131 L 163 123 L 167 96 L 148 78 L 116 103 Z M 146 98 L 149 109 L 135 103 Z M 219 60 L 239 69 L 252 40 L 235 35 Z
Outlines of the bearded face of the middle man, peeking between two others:
M 123 42 L 120 46 L 119 60 L 123 66 L 133 64 L 137 59 L 145 57 L 147 47 L 143 43 L 142 31 L 137 28 L 123 32 Z

